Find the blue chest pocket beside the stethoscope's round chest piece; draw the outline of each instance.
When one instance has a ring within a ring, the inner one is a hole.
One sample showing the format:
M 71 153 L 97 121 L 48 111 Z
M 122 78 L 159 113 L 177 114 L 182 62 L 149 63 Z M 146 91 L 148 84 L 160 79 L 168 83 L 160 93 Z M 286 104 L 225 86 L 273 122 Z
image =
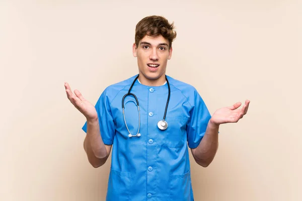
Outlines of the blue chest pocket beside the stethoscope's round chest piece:
M 186 142 L 186 125 L 188 118 L 166 117 L 168 128 L 166 130 L 165 144 L 170 148 L 180 148 Z

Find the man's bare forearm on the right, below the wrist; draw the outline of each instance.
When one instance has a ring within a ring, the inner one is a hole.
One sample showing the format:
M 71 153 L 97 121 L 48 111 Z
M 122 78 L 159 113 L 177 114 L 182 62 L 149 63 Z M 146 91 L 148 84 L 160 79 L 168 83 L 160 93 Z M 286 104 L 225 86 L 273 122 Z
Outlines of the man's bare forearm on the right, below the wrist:
M 213 124 L 210 120 L 200 144 L 194 150 L 195 161 L 203 167 L 207 167 L 212 162 L 217 152 L 218 129 L 219 125 Z

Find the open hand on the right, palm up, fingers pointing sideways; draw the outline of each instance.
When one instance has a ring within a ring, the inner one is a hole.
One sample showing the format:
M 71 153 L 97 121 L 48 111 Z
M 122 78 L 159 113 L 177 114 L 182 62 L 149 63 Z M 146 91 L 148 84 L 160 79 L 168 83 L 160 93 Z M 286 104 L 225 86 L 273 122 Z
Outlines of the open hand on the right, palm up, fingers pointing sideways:
M 244 115 L 247 114 L 249 104 L 250 104 L 250 100 L 246 100 L 245 105 L 240 110 L 236 110 L 241 106 L 240 102 L 230 107 L 218 109 L 212 115 L 211 122 L 216 125 L 225 124 L 225 123 L 236 123 L 241 118 L 243 118 Z

